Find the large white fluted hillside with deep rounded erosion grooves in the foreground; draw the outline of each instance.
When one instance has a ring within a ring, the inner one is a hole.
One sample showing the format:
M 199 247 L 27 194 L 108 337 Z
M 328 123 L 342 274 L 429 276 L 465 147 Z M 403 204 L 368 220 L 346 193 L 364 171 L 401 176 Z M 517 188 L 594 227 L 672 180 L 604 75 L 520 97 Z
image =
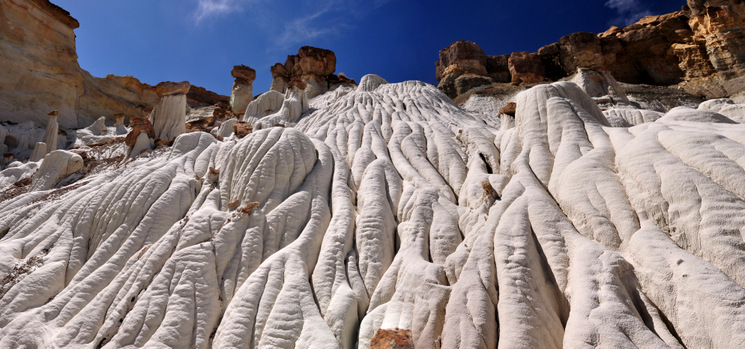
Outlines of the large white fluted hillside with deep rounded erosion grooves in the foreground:
M 744 347 L 745 126 L 517 105 L 368 76 L 0 201 L 0 347 Z

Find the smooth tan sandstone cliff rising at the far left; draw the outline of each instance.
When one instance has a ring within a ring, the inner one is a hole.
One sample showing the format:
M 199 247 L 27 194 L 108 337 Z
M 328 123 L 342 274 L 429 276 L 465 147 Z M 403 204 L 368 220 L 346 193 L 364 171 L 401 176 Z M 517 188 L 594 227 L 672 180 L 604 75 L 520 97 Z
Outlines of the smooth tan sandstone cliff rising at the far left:
M 49 1 L 4 1 L 0 23 L 0 119 L 44 125 L 56 109 L 61 127 L 79 128 L 102 115 L 145 116 L 143 108 L 158 103 L 154 87 L 134 77 L 97 78 L 81 69 L 73 32 L 78 21 Z M 208 92 L 189 97 L 215 99 Z

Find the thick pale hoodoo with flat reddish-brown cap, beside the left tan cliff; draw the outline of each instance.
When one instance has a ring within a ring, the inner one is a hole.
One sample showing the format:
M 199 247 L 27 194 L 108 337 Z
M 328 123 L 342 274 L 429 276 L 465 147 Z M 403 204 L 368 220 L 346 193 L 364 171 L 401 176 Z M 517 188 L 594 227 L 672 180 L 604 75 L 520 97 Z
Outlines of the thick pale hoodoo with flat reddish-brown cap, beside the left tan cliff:
M 150 114 L 150 120 L 156 139 L 172 141 L 186 132 L 186 93 L 189 87 L 188 81 L 167 81 L 155 86 L 160 102 Z

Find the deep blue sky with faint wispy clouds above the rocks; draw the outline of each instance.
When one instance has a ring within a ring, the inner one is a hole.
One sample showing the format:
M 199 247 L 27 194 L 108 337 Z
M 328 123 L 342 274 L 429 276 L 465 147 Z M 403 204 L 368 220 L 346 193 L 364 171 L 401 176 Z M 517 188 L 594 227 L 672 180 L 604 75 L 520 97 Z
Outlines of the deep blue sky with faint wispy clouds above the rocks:
M 52 0 L 80 22 L 78 60 L 94 76 L 188 80 L 228 95 L 233 65 L 256 69 L 254 94 L 269 67 L 300 46 L 336 53 L 336 72 L 359 81 L 436 83 L 434 62 L 453 41 L 488 55 L 534 52 L 577 32 L 601 32 L 643 15 L 679 10 L 673 0 Z

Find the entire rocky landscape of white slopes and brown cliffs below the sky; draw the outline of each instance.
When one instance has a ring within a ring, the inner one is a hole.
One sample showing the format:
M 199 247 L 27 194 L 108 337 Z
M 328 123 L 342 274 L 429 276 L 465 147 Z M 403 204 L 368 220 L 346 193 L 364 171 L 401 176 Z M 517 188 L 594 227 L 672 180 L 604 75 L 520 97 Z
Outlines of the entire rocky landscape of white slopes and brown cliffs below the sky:
M 57 72 L 0 79 L 1 348 L 745 347 L 740 1 L 459 41 L 439 88 L 303 47 L 255 97 L 91 77 L 22 50 L 64 10 L 1 9 Z

